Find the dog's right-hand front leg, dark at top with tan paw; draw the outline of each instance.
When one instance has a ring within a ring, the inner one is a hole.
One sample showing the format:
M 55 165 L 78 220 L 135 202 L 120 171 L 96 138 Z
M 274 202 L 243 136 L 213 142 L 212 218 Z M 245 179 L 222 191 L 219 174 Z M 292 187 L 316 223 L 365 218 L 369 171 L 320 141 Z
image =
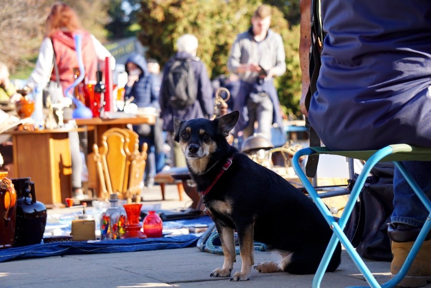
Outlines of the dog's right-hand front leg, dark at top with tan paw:
M 238 227 L 239 226 L 240 225 L 238 225 Z M 235 272 L 231 277 L 231 281 L 245 281 L 250 279 L 251 266 L 254 264 L 253 226 L 253 224 L 249 224 L 243 229 L 237 228 L 242 265 L 241 271 Z

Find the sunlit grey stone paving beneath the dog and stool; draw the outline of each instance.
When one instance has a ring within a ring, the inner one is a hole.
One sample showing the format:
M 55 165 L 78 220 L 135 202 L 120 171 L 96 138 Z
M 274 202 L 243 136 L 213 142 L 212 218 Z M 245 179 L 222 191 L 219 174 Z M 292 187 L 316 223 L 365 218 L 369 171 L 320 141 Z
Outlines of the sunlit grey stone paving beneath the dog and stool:
M 184 208 L 188 200 L 179 201 L 175 186 L 169 186 L 166 200 L 160 201 L 159 187 L 147 189 L 144 205 L 161 204 L 162 209 Z M 187 196 L 185 197 L 187 198 Z M 67 210 L 66 210 L 67 211 Z M 61 213 L 50 210 L 48 214 Z M 276 255 L 255 252 L 255 263 L 274 259 Z M 384 282 L 389 275 L 389 262 L 367 261 L 377 280 Z M 210 277 L 214 268 L 221 267 L 223 256 L 202 253 L 196 248 L 158 250 L 131 253 L 69 255 L 27 259 L 0 263 L 0 287 L 45 288 L 138 288 L 138 287 L 311 287 L 313 275 L 290 275 L 284 272 L 261 274 L 252 270 L 245 282 L 231 282 L 226 277 Z M 237 257 L 233 273 L 241 267 Z M 326 273 L 322 287 L 366 285 L 359 270 L 345 251 L 340 267 Z M 431 284 L 426 286 L 431 288 Z

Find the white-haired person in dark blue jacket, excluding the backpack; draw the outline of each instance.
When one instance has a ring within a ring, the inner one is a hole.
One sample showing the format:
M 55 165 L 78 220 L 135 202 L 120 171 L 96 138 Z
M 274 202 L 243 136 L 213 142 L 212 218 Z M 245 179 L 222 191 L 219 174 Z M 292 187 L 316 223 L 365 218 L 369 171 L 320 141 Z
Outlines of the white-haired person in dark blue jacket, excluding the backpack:
M 185 108 L 176 109 L 169 105 L 169 95 L 167 95 L 166 86 L 162 85 L 160 89 L 160 117 L 163 119 L 163 130 L 170 134 L 167 137 L 167 141 L 170 147 L 173 148 L 171 149 L 171 152 L 173 152 L 171 153 L 171 160 L 175 167 L 186 167 L 186 160 L 179 144 L 172 139 L 174 135 L 174 116 L 190 120 L 202 117 L 210 118 L 214 114 L 211 80 L 208 77 L 205 65 L 196 57 L 197 48 L 198 40 L 194 35 L 185 34 L 181 36 L 177 40 L 177 53 L 169 59 L 163 69 L 162 83 L 165 83 L 168 76 L 168 67 L 170 66 L 169 62 L 173 62 L 175 59 L 192 59 L 190 64 L 192 65 L 196 81 L 196 101 Z

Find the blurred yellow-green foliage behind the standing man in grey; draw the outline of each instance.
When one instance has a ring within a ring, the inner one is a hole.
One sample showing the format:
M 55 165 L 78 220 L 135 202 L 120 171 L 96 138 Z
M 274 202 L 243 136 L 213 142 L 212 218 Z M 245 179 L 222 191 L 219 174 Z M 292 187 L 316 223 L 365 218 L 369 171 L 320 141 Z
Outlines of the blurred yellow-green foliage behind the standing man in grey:
M 299 26 L 294 1 L 264 1 L 274 7 L 272 29 L 281 34 L 286 52 L 286 73 L 276 78 L 276 87 L 286 113 L 299 115 L 300 67 L 298 58 Z M 288 8 L 283 5 L 289 3 Z M 147 57 L 156 58 L 163 66 L 176 51 L 176 40 L 185 33 L 199 40 L 198 56 L 210 77 L 228 73 L 226 63 L 236 35 L 245 31 L 261 1 L 219 0 L 141 0 L 137 13 L 142 30 L 137 34 L 148 47 Z M 296 6 L 295 6 L 296 5 Z M 296 11 L 298 14 L 299 11 Z M 286 19 L 290 19 L 292 23 Z M 296 19 L 296 20 L 295 20 Z

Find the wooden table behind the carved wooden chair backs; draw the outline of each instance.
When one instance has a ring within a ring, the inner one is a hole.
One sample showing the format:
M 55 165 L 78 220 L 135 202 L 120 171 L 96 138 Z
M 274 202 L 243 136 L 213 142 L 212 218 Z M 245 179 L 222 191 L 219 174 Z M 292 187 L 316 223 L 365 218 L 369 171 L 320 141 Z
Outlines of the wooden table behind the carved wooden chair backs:
M 89 170 L 89 183 L 88 188 L 94 189 L 97 193 L 96 196 L 101 196 L 100 180 L 96 172 L 96 162 L 94 160 L 93 144 L 101 146 L 102 135 L 108 129 L 111 128 L 127 128 L 128 124 L 140 125 L 149 124 L 154 125 L 156 121 L 156 114 L 149 115 L 139 115 L 130 118 L 115 118 L 115 119 L 105 119 L 105 118 L 91 118 L 91 119 L 75 119 L 78 127 L 87 128 L 87 138 L 88 138 L 88 151 L 87 151 L 87 167 Z

